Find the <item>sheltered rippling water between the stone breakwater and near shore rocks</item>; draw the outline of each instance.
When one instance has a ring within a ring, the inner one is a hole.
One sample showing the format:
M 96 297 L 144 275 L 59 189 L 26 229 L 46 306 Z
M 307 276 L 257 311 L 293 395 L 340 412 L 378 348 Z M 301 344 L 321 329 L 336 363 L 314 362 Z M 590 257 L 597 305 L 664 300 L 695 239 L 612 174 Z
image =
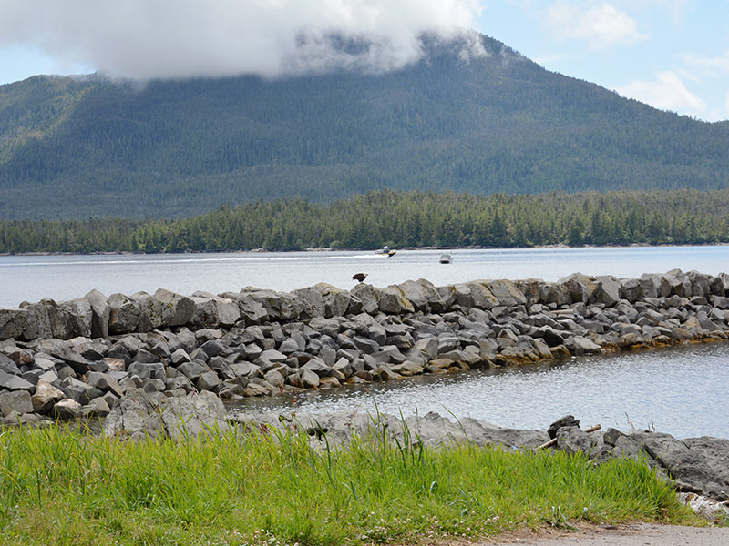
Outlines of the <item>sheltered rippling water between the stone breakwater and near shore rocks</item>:
M 404 415 L 436 411 L 521 429 L 571 413 L 587 427 L 729 438 L 729 344 L 658 349 L 507 369 L 403 379 L 366 388 L 250 399 L 244 410 Z

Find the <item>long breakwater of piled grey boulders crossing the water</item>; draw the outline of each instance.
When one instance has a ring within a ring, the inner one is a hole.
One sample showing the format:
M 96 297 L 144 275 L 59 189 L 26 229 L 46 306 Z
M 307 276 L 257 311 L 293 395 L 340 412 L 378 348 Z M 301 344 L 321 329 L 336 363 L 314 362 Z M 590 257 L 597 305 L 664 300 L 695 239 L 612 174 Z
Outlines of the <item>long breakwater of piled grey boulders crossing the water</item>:
M 729 276 L 420 279 L 342 290 L 159 289 L 0 308 L 6 423 L 105 416 L 130 392 L 221 399 L 726 339 Z

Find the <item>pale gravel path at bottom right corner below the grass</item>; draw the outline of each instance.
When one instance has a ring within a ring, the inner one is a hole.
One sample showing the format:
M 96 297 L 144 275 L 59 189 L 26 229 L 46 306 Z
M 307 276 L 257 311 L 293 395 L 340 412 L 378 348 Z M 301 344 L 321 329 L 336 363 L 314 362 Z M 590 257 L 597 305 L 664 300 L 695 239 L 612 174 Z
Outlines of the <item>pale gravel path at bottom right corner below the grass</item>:
M 557 536 L 559 534 L 559 536 Z M 590 527 L 555 534 L 516 534 L 488 546 L 727 546 L 729 527 L 681 527 L 655 523 Z M 485 546 L 485 545 L 484 545 Z

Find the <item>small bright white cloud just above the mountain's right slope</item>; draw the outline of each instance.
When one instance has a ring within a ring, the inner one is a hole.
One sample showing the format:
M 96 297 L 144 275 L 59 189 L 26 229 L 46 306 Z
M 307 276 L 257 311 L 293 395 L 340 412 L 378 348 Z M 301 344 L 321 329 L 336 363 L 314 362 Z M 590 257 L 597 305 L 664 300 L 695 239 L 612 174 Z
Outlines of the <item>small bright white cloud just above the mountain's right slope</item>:
M 694 114 L 706 110 L 703 100 L 686 89 L 681 78 L 671 71 L 659 73 L 653 81 L 634 81 L 615 90 L 662 110 Z

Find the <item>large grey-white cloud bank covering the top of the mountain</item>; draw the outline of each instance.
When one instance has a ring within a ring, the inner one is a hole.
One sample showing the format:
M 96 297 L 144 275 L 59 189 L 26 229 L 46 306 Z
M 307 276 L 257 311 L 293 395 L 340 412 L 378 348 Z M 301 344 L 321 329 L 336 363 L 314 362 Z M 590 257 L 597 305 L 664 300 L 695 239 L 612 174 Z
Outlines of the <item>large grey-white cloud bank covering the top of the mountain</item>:
M 0 0 L 0 47 L 140 79 L 387 71 L 478 12 L 477 0 Z

